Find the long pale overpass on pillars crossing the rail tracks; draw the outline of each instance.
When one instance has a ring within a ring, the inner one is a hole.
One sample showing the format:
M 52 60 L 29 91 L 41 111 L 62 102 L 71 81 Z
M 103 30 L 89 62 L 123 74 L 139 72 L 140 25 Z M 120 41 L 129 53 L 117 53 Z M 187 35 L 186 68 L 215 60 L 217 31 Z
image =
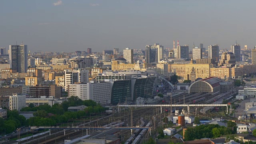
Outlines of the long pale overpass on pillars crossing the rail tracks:
M 120 112 L 120 107 L 160 107 L 162 113 L 162 107 L 188 107 L 188 113 L 190 113 L 191 106 L 203 106 L 203 107 L 210 107 L 210 106 L 226 106 L 227 107 L 227 114 L 228 114 L 228 104 L 118 104 L 118 112 Z

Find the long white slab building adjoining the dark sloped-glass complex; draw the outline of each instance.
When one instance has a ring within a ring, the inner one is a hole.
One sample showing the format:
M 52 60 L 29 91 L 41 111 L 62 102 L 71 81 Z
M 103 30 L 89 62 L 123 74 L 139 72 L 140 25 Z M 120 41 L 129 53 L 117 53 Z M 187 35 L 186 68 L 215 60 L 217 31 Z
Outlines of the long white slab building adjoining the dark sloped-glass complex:
M 68 96 L 78 96 L 82 100 L 93 100 L 99 104 L 110 104 L 110 82 L 69 84 Z

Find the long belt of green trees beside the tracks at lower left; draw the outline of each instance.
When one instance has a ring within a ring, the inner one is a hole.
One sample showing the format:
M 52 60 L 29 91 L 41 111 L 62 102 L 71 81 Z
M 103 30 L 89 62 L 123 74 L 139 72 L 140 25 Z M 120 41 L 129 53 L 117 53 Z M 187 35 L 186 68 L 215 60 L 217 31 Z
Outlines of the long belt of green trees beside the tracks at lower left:
M 85 105 L 85 108 L 79 112 L 67 112 L 70 106 Z M 48 104 L 22 108 L 22 112 L 34 112 L 34 117 L 26 120 L 24 116 L 18 114 L 16 110 L 8 110 L 7 119 L 0 118 L 0 133 L 11 133 L 21 126 L 53 126 L 57 123 L 68 122 L 71 119 L 80 119 L 82 116 L 90 116 L 93 113 L 104 112 L 105 108 L 93 100 L 81 100 L 77 96 L 71 96 L 68 101 L 62 104 L 54 104 L 52 107 Z

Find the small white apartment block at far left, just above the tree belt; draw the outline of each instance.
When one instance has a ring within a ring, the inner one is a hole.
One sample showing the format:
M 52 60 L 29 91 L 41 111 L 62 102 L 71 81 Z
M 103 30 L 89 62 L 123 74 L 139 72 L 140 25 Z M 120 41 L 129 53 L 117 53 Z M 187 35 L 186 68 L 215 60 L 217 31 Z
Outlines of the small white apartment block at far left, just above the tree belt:
M 25 94 L 12 94 L 9 96 L 10 110 L 20 111 L 22 108 L 26 107 L 26 95 Z

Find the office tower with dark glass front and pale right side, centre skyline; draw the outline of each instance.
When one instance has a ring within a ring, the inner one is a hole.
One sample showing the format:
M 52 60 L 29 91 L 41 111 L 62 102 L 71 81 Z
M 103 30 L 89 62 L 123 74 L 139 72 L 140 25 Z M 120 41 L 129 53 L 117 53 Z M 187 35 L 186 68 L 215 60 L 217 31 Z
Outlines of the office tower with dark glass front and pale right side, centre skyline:
M 164 46 L 160 44 L 146 45 L 146 63 L 158 63 L 164 58 Z

